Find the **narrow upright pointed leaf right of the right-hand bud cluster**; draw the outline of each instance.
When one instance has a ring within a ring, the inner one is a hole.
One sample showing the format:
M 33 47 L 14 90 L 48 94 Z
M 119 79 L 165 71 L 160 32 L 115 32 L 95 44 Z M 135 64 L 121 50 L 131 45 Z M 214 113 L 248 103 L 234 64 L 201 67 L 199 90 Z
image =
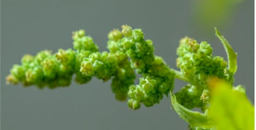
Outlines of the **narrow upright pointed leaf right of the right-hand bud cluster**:
M 233 48 L 231 45 L 227 42 L 227 40 L 222 36 L 220 31 L 217 28 L 215 29 L 215 34 L 216 36 L 221 40 L 225 51 L 227 53 L 227 58 L 228 58 L 228 69 L 233 75 L 237 72 L 237 53 L 234 52 Z

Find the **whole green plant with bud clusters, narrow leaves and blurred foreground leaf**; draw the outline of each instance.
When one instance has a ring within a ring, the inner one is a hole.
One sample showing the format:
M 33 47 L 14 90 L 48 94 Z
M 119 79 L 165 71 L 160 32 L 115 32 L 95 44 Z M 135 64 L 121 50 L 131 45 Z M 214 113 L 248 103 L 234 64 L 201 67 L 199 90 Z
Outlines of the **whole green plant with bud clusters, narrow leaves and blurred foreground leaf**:
M 180 71 L 176 71 L 154 55 L 153 42 L 144 38 L 141 29 L 123 25 L 121 31 L 110 31 L 108 52 L 99 52 L 92 37 L 81 29 L 72 33 L 73 49 L 25 55 L 21 65 L 13 66 L 6 82 L 56 88 L 69 86 L 73 75 L 78 84 L 86 84 L 92 77 L 111 79 L 116 99 L 128 99 L 131 109 L 137 110 L 142 104 L 154 106 L 170 93 L 173 110 L 188 122 L 190 130 L 253 130 L 254 106 L 243 87 L 233 87 L 237 53 L 218 29 L 215 31 L 228 61 L 213 56 L 207 42 L 185 37 L 177 48 Z M 138 85 L 134 85 L 135 72 L 141 74 Z M 188 85 L 173 93 L 174 78 Z M 200 108 L 202 113 L 192 111 L 193 108 Z

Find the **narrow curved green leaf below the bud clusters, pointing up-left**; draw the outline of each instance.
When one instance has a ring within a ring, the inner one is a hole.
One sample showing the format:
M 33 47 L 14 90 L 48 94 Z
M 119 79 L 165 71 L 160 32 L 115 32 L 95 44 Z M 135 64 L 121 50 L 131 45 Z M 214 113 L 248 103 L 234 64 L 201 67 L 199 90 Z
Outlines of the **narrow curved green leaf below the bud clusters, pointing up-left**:
M 171 92 L 170 94 L 173 109 L 183 120 L 189 123 L 191 127 L 199 127 L 203 129 L 210 129 L 214 127 L 213 121 L 209 119 L 207 110 L 205 111 L 205 114 L 191 111 L 179 104 L 174 94 Z

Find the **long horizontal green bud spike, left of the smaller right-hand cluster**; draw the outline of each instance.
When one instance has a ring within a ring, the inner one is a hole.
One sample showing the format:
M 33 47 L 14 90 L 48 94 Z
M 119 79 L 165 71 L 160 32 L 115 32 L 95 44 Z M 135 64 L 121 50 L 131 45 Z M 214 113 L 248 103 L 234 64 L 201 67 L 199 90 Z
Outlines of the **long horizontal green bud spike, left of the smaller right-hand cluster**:
M 35 57 L 25 55 L 21 65 L 14 65 L 7 83 L 42 87 L 69 86 L 72 75 L 75 81 L 85 84 L 92 77 L 107 81 L 112 77 L 111 88 L 120 101 L 130 97 L 128 106 L 138 109 L 140 103 L 153 106 L 173 88 L 174 72 L 154 55 L 151 40 L 144 40 L 141 29 L 124 25 L 122 31 L 113 29 L 108 34 L 109 52 L 99 52 L 97 44 L 85 30 L 73 32 L 73 49 L 59 49 L 57 53 L 45 50 Z M 130 60 L 129 60 L 130 58 Z M 134 70 L 142 74 L 139 85 L 133 85 Z

